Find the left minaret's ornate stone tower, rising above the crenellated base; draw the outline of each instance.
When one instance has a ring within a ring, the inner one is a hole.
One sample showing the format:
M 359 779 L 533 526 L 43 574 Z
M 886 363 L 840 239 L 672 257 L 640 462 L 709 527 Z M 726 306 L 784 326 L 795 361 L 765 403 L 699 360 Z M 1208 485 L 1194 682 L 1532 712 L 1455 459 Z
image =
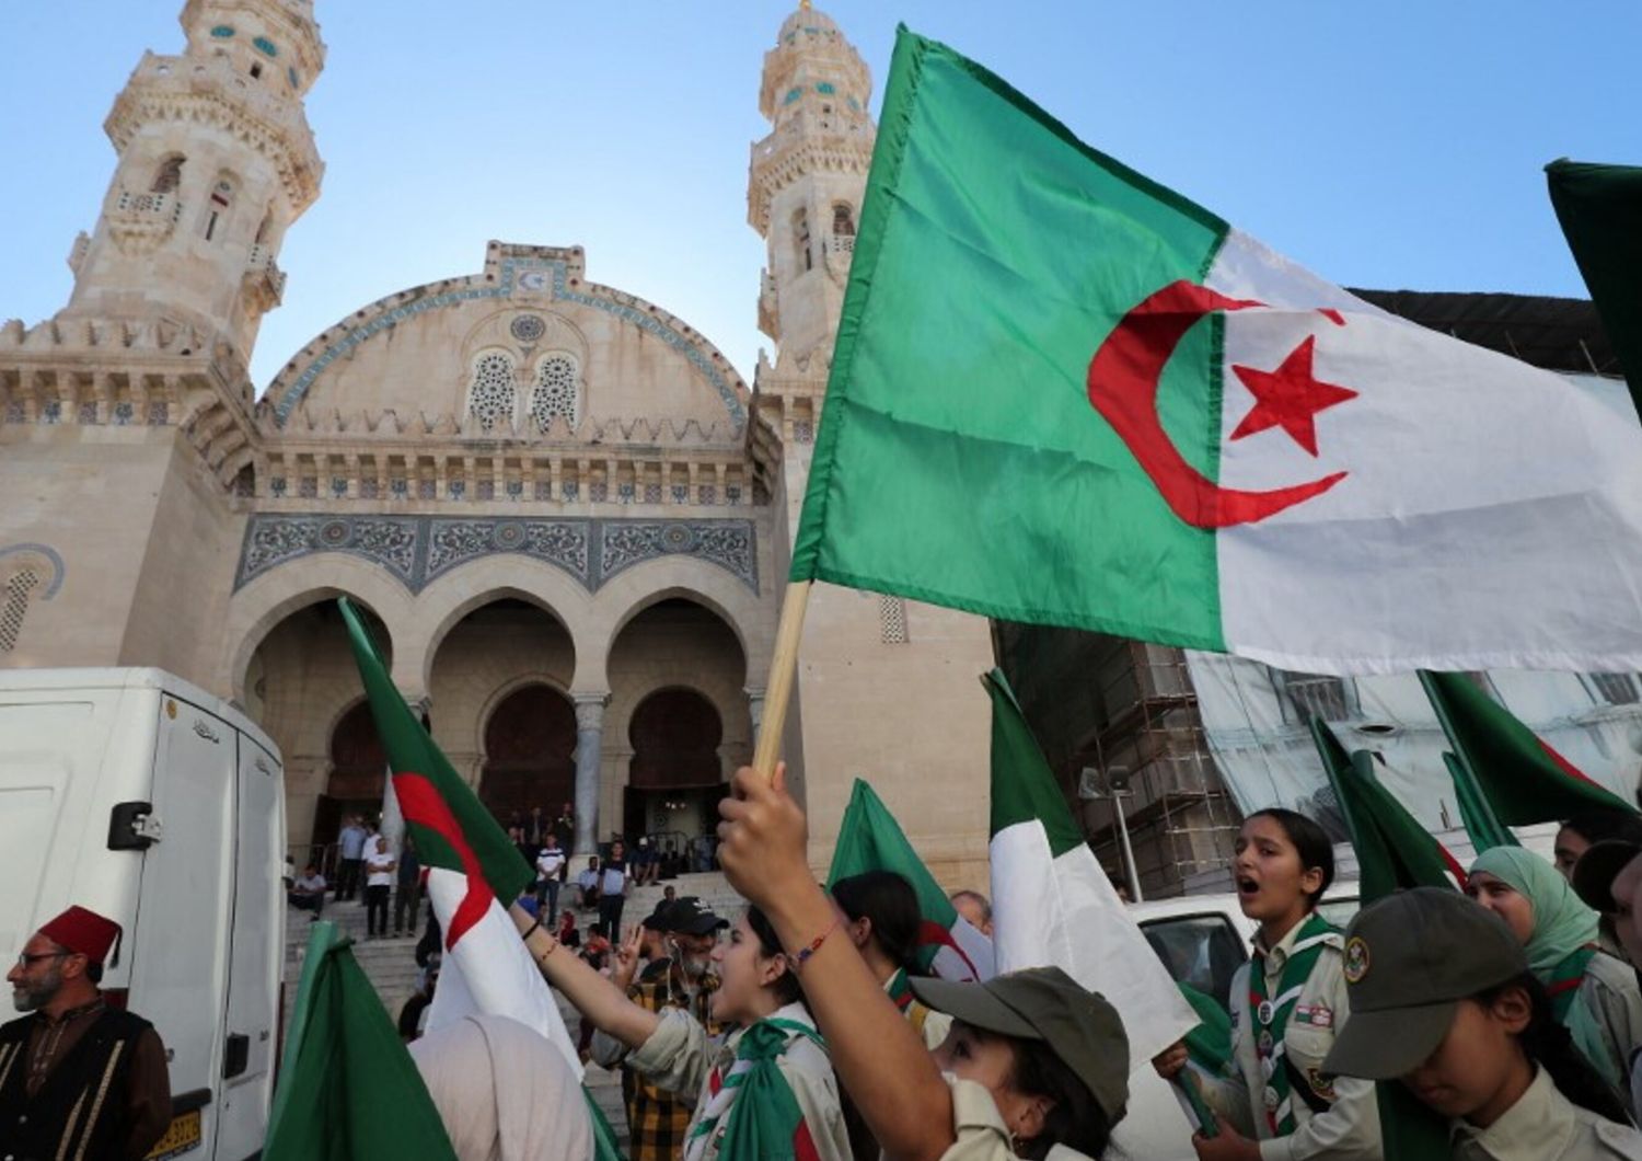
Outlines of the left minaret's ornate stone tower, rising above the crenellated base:
M 248 363 L 319 197 L 302 99 L 325 44 L 312 0 L 189 0 L 181 23 L 182 54 L 144 53 L 103 123 L 120 163 L 57 317 L 190 324 Z

